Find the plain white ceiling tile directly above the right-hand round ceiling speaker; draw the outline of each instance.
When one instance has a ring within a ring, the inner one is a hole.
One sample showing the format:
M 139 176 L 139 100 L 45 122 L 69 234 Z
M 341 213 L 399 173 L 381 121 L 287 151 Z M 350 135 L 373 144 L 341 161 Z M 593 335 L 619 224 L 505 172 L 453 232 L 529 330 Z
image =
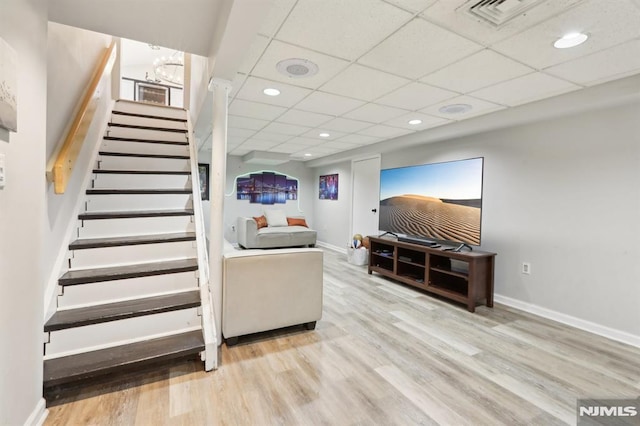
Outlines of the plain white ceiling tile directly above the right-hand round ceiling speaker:
M 420 81 L 459 93 L 468 93 L 534 71 L 533 68 L 485 49 L 431 73 Z

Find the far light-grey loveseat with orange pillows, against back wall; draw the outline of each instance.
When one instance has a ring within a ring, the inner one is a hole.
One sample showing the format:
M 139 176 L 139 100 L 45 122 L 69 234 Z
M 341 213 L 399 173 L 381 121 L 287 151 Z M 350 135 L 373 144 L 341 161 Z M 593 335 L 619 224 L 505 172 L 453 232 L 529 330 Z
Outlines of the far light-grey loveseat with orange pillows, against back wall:
M 306 226 L 266 226 L 252 217 L 238 218 L 238 244 L 243 248 L 313 247 L 317 233 Z

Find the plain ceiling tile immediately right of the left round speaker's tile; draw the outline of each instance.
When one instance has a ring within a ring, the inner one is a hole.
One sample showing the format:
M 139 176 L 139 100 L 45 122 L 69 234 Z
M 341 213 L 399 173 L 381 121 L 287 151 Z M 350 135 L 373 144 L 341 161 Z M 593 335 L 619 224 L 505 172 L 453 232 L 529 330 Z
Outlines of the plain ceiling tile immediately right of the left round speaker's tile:
M 409 83 L 407 79 L 352 64 L 325 83 L 321 89 L 324 92 L 372 101 L 407 83 Z

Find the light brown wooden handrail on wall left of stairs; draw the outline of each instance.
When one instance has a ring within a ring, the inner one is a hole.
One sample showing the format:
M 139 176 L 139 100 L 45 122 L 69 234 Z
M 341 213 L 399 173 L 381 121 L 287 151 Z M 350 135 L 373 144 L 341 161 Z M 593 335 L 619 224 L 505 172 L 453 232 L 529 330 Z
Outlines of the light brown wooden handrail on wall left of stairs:
M 84 91 L 81 103 L 77 107 L 77 113 L 73 118 L 69 131 L 64 141 L 59 145 L 53 164 L 47 169 L 47 179 L 49 182 L 53 182 L 56 194 L 64 194 L 67 188 L 73 166 L 80 154 L 82 144 L 98 107 L 98 101 L 103 95 L 98 86 L 105 72 L 110 71 L 115 62 L 115 46 L 116 43 L 114 41 L 105 49 L 100 58 L 100 62 L 94 69 L 91 80 Z

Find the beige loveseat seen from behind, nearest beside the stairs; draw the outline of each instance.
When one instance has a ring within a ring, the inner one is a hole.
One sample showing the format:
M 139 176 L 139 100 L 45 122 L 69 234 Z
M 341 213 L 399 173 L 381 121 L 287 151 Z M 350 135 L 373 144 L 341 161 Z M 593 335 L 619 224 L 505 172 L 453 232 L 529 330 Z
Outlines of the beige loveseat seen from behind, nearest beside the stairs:
M 235 250 L 223 257 L 222 334 L 238 336 L 322 317 L 323 252 L 316 248 Z

